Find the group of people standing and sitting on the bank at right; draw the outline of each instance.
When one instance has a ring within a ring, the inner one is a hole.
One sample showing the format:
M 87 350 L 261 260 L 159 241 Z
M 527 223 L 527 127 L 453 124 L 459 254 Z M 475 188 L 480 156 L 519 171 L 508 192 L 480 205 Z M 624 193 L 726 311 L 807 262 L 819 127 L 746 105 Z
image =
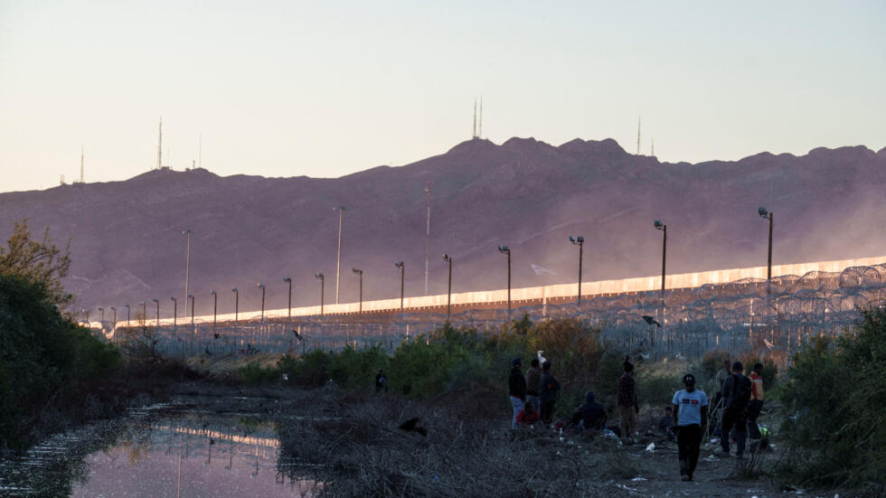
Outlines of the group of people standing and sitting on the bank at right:
M 523 363 L 520 358 L 514 359 L 508 379 L 508 393 L 514 409 L 512 428 L 538 421 L 551 424 L 560 382 L 551 374 L 550 361 L 543 362 L 541 366 L 540 370 L 539 361 L 533 359 L 532 366 L 524 376 Z M 612 429 L 614 432 L 618 429 L 618 435 L 629 441 L 636 433 L 636 415 L 640 408 L 636 398 L 634 364 L 627 358 L 624 369 L 617 386 L 619 427 Z M 741 362 L 730 365 L 726 361 L 723 370 L 717 374 L 720 390 L 713 400 L 713 406 L 714 409 L 722 408 L 715 430 L 715 434 L 720 436 L 721 456 L 730 454 L 730 440 L 735 441 L 736 456 L 741 458 L 748 435 L 752 439 L 760 438 L 757 418 L 763 407 L 763 365 L 755 364 L 748 377 L 743 372 Z M 687 373 L 683 376 L 683 390 L 674 393 L 671 406 L 665 408 L 665 417 L 659 420 L 659 429 L 665 437 L 677 440 L 680 475 L 684 481 L 693 480 L 698 465 L 702 438 L 708 434 L 708 408 L 707 395 L 703 390 L 695 389 L 695 376 Z M 571 421 L 583 430 L 602 430 L 607 428 L 606 420 L 606 410 L 597 402 L 594 392 L 589 390 L 585 393 L 584 404 Z

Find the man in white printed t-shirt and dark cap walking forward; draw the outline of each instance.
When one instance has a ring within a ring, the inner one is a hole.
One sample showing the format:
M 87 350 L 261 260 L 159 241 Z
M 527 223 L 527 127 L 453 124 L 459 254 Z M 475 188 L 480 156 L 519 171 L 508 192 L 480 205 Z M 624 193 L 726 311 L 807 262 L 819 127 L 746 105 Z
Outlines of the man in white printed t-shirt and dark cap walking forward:
M 698 454 L 702 448 L 702 435 L 708 428 L 708 397 L 704 391 L 695 389 L 692 373 L 683 376 L 684 390 L 674 393 L 674 432 L 680 456 L 680 475 L 683 481 L 692 481 Z

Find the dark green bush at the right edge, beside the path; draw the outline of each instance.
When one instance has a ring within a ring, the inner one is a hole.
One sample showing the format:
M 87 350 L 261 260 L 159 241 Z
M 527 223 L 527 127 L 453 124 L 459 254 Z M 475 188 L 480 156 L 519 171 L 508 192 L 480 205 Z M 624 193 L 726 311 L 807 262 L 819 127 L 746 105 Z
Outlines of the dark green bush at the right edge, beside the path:
M 886 493 L 884 358 L 886 308 L 863 311 L 856 337 L 818 338 L 796 354 L 782 392 L 796 413 L 784 475 Z

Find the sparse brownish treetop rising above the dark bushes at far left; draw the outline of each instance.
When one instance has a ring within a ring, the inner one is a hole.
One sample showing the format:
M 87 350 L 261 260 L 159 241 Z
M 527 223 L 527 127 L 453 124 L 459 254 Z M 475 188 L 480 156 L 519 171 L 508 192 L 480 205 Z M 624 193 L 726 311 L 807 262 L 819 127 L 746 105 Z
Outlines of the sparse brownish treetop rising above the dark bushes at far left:
M 64 249 L 59 249 L 49 237 L 49 227 L 43 232 L 42 241 L 33 240 L 26 218 L 15 223 L 6 247 L 0 247 L 0 274 L 24 277 L 42 285 L 52 304 L 60 308 L 73 300 L 61 286 L 70 269 L 71 240 Z

